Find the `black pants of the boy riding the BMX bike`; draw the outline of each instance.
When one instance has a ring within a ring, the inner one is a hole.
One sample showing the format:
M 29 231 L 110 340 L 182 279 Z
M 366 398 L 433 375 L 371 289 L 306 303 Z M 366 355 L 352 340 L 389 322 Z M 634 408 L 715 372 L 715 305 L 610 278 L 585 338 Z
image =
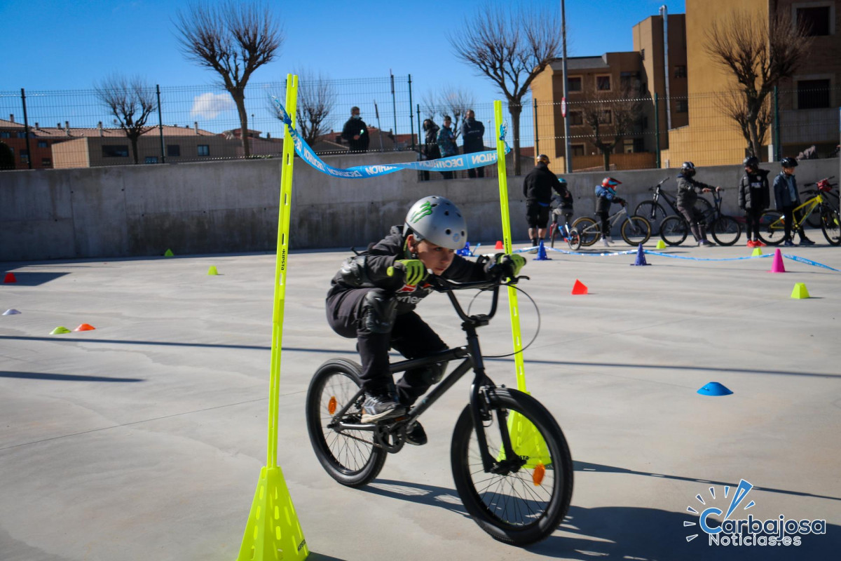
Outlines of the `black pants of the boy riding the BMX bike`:
M 406 358 L 427 357 L 447 348 L 435 331 L 414 311 L 399 314 L 389 333 L 373 333 L 365 328 L 365 294 L 373 288 L 351 288 L 327 299 L 327 321 L 333 331 L 356 338 L 362 359 L 362 387 L 369 394 L 382 394 L 394 383 L 389 372 L 389 349 Z M 407 370 L 397 384 L 400 403 L 411 405 L 432 384 L 426 368 Z

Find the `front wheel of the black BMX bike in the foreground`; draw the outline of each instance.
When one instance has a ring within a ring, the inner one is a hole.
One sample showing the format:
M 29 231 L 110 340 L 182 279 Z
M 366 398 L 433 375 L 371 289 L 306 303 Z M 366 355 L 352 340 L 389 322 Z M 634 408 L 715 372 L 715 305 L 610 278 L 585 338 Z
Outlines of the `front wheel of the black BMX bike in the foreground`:
M 539 542 L 555 531 L 569 510 L 573 491 L 569 446 L 557 421 L 531 395 L 496 388 L 488 392 L 488 400 L 491 418 L 484 422 L 484 431 L 491 456 L 504 457 L 502 422 L 519 426 L 519 434 L 528 435 L 518 439 L 516 429 L 510 432 L 515 452 L 528 460 L 511 474 L 485 473 L 468 405 L 452 431 L 450 461 L 456 490 L 473 521 L 494 539 L 518 546 Z

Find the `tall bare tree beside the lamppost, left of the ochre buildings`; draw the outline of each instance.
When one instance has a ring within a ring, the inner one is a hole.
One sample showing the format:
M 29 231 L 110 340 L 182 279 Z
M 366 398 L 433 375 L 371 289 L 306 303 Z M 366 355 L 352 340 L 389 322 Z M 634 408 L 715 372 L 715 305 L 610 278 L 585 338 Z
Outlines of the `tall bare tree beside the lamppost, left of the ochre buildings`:
M 550 13 L 490 4 L 448 33 L 453 53 L 489 77 L 508 101 L 514 144 L 514 173 L 520 174 L 520 114 L 532 80 L 558 54 L 560 24 Z

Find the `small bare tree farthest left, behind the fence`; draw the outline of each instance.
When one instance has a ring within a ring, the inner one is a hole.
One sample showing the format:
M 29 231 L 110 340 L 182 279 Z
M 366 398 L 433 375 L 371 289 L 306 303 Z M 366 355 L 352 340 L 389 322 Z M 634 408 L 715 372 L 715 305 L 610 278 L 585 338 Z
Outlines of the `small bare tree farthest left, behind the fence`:
M 137 139 L 152 128 L 146 125 L 146 120 L 157 109 L 155 90 L 140 77 L 128 78 L 119 74 L 103 78 L 94 90 L 99 101 L 114 115 L 114 124 L 125 132 L 131 142 L 135 164 L 140 163 Z

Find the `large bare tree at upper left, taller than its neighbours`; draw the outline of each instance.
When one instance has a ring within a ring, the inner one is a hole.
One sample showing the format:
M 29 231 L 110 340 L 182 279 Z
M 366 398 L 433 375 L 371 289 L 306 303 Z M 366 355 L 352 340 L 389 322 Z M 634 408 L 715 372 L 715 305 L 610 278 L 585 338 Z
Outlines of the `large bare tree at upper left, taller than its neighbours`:
M 265 4 L 225 0 L 188 4 L 177 12 L 175 27 L 184 56 L 220 76 L 240 117 L 243 155 L 251 156 L 246 113 L 246 84 L 260 66 L 274 60 L 283 31 Z

